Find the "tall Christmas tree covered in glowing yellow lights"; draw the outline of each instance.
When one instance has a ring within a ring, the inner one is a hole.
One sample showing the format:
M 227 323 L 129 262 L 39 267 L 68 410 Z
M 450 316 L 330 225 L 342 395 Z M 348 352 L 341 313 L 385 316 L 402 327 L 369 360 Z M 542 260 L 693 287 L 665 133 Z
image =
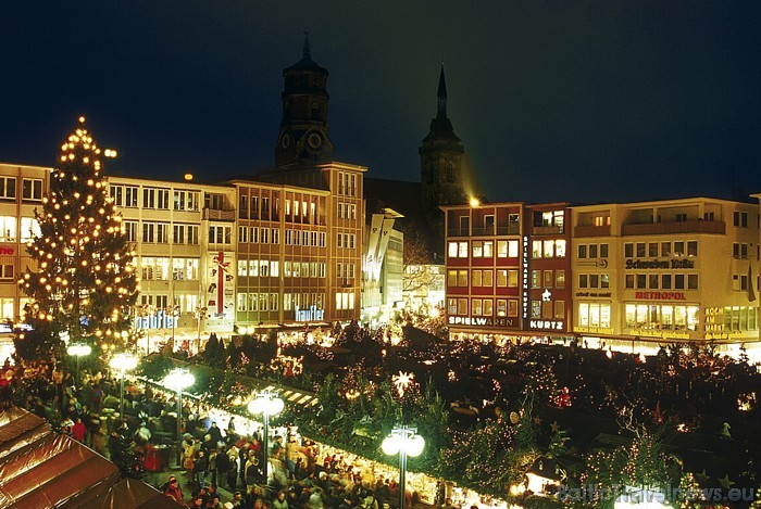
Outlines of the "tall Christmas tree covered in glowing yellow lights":
M 101 150 L 84 123 L 80 117 L 61 145 L 50 192 L 35 211 L 39 234 L 27 246 L 37 267 L 20 281 L 34 329 L 25 334 L 33 344 L 22 349 L 36 355 L 50 353 L 66 332 L 72 341 L 124 346 L 137 297 L 132 245 L 108 195 Z

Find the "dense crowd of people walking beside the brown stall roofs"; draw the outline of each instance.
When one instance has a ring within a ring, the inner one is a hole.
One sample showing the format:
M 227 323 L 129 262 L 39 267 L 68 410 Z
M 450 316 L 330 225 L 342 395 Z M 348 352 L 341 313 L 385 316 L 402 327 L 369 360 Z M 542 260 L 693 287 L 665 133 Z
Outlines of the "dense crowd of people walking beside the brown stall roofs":
M 129 382 L 120 409 L 120 381 L 100 371 L 84 371 L 76 383 L 60 364 L 20 367 L 5 362 L 0 373 L 3 405 L 15 404 L 46 418 L 62 433 L 91 447 L 120 466 L 124 475 L 141 476 L 150 453 L 173 450 L 177 402 L 171 392 Z M 351 465 L 349 458 L 325 454 L 320 446 L 292 434 L 275 434 L 266 451 L 260 433 L 225 430 L 210 409 L 190 398 L 180 416 L 182 470 L 169 465 L 151 469 L 172 472 L 155 486 L 191 508 L 383 509 L 399 507 L 399 485 Z M 266 459 L 266 474 L 264 461 Z M 227 494 L 222 494 L 221 489 Z M 415 495 L 416 496 L 416 495 Z M 413 493 L 406 493 L 406 508 Z

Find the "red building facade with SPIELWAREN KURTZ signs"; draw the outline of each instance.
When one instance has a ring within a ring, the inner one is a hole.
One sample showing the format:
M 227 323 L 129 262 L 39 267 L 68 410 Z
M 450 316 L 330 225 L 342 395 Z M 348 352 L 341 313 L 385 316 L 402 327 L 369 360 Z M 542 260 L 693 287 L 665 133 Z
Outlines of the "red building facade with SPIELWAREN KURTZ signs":
M 441 208 L 450 331 L 499 339 L 567 335 L 567 205 Z

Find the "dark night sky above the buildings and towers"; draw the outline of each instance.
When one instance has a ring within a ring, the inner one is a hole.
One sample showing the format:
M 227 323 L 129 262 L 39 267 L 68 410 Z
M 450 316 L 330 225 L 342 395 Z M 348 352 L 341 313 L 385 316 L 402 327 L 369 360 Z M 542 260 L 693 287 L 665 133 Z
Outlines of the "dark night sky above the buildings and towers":
M 5 2 L 0 162 L 52 165 L 79 114 L 107 166 L 202 179 L 274 163 L 282 69 L 330 72 L 338 161 L 419 180 L 445 64 L 491 201 L 761 192 L 761 2 Z

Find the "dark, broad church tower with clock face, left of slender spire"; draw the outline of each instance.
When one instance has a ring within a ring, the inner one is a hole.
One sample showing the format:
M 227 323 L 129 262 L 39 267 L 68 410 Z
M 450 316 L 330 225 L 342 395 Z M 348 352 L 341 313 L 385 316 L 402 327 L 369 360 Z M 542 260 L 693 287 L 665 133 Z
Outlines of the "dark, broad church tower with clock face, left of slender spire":
M 327 69 L 312 60 L 305 34 L 302 59 L 283 69 L 283 119 L 275 147 L 275 166 L 333 161 L 333 142 L 327 136 Z

